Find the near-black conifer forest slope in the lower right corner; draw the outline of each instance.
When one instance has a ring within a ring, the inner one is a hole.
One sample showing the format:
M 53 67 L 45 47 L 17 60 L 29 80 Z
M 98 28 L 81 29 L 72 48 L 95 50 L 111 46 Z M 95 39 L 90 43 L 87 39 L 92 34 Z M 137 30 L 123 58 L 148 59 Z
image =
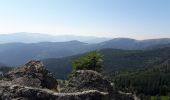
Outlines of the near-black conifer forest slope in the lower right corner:
M 142 96 L 143 100 L 150 100 L 146 99 L 146 96 L 167 96 L 170 93 L 170 59 L 154 67 L 142 70 L 126 70 L 112 73 L 110 77 L 118 90 L 133 92 Z M 154 100 L 169 99 L 164 97 L 164 99 Z

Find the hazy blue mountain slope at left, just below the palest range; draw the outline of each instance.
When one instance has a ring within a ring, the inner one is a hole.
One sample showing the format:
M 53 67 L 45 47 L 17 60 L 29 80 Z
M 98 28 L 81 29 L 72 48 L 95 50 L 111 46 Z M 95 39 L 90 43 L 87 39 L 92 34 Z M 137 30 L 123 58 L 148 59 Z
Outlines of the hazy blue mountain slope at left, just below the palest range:
M 65 57 L 85 52 L 85 47 L 86 43 L 78 41 L 0 44 L 0 62 L 19 65 L 33 59 Z

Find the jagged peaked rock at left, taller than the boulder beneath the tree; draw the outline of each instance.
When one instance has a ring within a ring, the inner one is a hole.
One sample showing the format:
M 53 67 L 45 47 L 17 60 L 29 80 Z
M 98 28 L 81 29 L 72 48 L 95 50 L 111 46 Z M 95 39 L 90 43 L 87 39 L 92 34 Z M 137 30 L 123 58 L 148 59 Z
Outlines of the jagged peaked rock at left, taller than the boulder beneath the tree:
M 55 90 L 57 80 L 40 61 L 30 61 L 4 75 L 3 80 L 22 86 L 48 88 Z

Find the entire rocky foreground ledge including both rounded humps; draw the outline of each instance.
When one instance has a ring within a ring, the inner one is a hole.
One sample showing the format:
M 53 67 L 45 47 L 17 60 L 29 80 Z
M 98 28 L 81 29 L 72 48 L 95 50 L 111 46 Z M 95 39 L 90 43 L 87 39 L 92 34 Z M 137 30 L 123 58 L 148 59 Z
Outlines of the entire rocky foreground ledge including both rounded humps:
M 99 73 L 75 72 L 68 84 L 57 92 L 57 81 L 40 61 L 30 61 L 0 80 L 0 100 L 132 100 L 118 94 Z

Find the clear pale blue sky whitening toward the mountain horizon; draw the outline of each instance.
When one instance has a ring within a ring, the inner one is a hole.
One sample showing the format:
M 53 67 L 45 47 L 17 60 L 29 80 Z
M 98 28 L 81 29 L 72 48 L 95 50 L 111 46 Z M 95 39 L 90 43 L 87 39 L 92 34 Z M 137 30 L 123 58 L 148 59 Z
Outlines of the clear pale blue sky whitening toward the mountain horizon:
M 0 0 L 0 34 L 170 38 L 170 0 Z

